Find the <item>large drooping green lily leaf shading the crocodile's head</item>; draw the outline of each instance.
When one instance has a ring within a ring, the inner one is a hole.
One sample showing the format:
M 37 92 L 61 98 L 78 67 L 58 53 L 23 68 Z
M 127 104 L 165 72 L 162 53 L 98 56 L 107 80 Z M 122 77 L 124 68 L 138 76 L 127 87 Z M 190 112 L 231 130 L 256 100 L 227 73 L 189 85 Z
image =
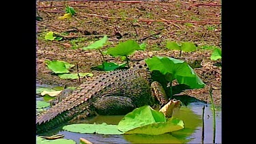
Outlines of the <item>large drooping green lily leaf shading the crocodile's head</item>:
M 177 79 L 180 84 L 188 85 L 191 89 L 198 89 L 205 86 L 201 78 L 197 76 L 193 68 L 186 61 L 171 57 L 152 57 L 145 59 L 150 71 L 159 70 L 167 76 L 169 81 Z

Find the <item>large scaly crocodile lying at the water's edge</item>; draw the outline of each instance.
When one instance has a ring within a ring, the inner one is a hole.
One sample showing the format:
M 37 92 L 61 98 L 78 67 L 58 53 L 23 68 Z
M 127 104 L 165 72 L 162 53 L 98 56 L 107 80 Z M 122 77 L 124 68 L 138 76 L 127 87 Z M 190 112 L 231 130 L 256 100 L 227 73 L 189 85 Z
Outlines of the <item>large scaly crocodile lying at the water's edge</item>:
M 36 133 L 67 121 L 94 115 L 125 115 L 144 105 L 169 102 L 167 81 L 160 72 L 150 72 L 145 61 L 128 70 L 115 70 L 81 84 L 70 95 L 36 117 Z M 155 80 L 161 81 L 155 81 Z M 164 86 L 162 86 L 164 85 Z M 159 90 L 160 89 L 160 90 Z

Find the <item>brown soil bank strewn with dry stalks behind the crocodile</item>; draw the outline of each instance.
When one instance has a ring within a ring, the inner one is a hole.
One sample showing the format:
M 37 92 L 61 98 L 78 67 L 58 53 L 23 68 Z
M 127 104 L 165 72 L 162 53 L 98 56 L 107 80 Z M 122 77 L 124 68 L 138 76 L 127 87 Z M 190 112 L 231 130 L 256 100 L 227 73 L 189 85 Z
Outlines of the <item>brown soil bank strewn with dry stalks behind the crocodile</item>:
M 203 3 L 205 5 L 196 5 Z M 70 19 L 59 20 L 65 14 L 65 5 L 70 5 L 76 15 Z M 89 78 L 77 80 L 64 80 L 52 74 L 44 61 L 62 60 L 78 64 L 79 72 L 91 72 L 94 76 L 102 73 L 91 70 L 102 62 L 98 51 L 83 51 L 81 47 L 88 46 L 101 36 L 84 37 L 82 35 L 109 35 L 109 42 L 103 49 L 113 47 L 121 40 L 139 40 L 147 43 L 147 50 L 134 53 L 131 59 L 145 59 L 147 57 L 168 56 L 179 57 L 178 51 L 165 48 L 167 40 L 177 42 L 194 42 L 198 49 L 193 53 L 182 53 L 182 58 L 202 57 L 202 68 L 195 72 L 206 84 L 203 89 L 187 89 L 182 92 L 205 102 L 210 102 L 208 86 L 213 87 L 214 102 L 221 105 L 221 67 L 215 66 L 216 61 L 210 60 L 212 49 L 205 50 L 203 46 L 211 45 L 221 48 L 221 1 L 38 1 L 37 12 L 42 21 L 37 22 L 36 43 L 36 76 L 38 83 L 67 85 L 77 87 Z M 168 21 L 169 20 L 169 21 Z M 63 33 L 68 30 L 79 29 L 69 33 L 69 36 L 79 35 L 80 38 L 64 38 L 61 41 L 44 40 L 48 31 Z M 135 31 L 136 29 L 136 31 Z M 122 39 L 118 40 L 117 33 Z M 137 34 L 136 34 L 137 33 Z M 72 47 L 76 44 L 78 48 Z M 109 61 L 120 59 L 108 57 Z M 76 68 L 73 68 L 76 72 Z M 180 93 L 180 94 L 182 94 Z

